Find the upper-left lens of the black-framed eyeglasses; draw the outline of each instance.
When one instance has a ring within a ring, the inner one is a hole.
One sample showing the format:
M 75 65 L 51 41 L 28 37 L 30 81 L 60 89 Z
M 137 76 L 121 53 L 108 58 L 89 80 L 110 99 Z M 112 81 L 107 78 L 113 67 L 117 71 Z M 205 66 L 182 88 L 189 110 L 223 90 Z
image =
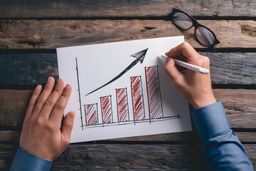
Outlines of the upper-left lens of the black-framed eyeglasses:
M 191 21 L 191 19 L 187 15 L 181 12 L 176 12 L 174 14 L 173 21 L 178 27 L 184 30 L 191 28 L 191 26 L 193 25 L 193 22 Z

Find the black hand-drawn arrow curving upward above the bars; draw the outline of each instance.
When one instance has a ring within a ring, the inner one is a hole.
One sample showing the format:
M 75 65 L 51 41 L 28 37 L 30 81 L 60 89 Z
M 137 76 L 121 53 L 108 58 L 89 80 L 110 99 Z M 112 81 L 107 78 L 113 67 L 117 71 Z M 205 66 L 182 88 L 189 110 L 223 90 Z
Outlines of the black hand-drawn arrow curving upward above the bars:
M 103 88 L 103 87 L 107 86 L 108 84 L 116 81 L 118 78 L 120 78 L 122 75 L 124 75 L 124 73 L 129 71 L 129 69 L 134 67 L 137 63 L 139 63 L 139 61 L 140 61 L 140 63 L 142 63 L 144 61 L 145 56 L 146 56 L 146 51 L 147 50 L 148 50 L 148 48 L 144 49 L 143 51 L 139 51 L 139 52 L 134 53 L 133 55 L 131 55 L 132 57 L 134 57 L 136 59 L 131 64 L 129 64 L 129 66 L 127 66 L 127 68 L 124 69 L 124 71 L 119 73 L 116 77 L 114 77 L 111 81 L 105 83 L 103 86 L 100 86 L 99 88 L 96 88 L 95 90 L 91 91 L 90 93 L 87 93 L 87 95 L 90 95 L 91 93 L 94 93 L 95 91 L 100 90 L 100 88 Z

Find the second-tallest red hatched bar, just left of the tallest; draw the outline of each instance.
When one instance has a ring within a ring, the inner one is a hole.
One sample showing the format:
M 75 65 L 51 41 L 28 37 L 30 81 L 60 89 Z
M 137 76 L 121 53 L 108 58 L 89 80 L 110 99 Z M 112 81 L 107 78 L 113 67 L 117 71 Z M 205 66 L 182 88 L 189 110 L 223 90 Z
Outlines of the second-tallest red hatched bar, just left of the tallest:
M 144 103 L 142 94 L 142 78 L 140 76 L 131 77 L 132 108 L 134 120 L 144 120 Z

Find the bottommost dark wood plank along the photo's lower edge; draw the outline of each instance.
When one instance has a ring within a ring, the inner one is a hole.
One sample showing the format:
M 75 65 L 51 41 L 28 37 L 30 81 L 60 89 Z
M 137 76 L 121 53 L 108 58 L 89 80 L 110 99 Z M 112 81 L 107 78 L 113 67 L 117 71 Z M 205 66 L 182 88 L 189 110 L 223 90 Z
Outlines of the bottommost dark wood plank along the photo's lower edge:
M 256 167 L 256 145 L 244 146 Z M 0 145 L 0 170 L 10 167 L 16 148 Z M 198 154 L 193 145 L 70 145 L 52 170 L 198 170 Z

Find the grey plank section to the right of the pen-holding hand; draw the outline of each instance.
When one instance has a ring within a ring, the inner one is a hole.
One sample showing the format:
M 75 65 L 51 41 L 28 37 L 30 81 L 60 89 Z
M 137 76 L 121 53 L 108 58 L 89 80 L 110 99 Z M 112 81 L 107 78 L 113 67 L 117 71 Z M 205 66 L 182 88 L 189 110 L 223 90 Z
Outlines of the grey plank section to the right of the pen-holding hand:
M 201 54 L 210 58 L 213 84 L 255 84 L 256 53 Z

